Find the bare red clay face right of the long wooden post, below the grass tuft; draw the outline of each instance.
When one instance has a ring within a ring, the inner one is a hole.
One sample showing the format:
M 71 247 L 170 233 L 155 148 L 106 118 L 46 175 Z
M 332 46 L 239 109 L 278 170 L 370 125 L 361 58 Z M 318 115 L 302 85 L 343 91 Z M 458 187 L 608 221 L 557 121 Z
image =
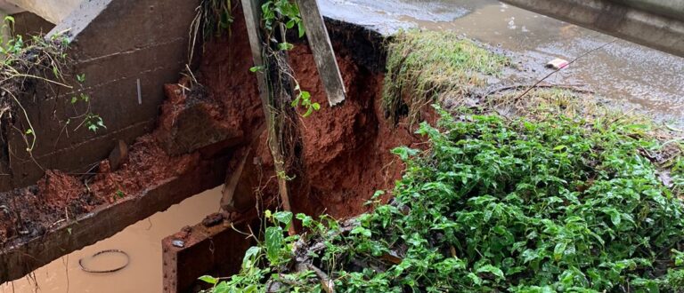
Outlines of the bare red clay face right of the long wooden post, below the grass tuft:
M 300 121 L 311 187 L 308 201 L 320 202 L 318 212 L 344 218 L 367 211 L 363 203 L 375 191 L 391 189 L 401 176 L 403 164 L 391 149 L 420 139 L 385 119 L 380 107 L 383 76 L 357 67 L 345 50 L 337 51 L 347 90 L 345 103 L 338 107 L 329 106 L 308 47 L 297 46 L 290 57 L 302 88 L 322 105 L 321 111 Z

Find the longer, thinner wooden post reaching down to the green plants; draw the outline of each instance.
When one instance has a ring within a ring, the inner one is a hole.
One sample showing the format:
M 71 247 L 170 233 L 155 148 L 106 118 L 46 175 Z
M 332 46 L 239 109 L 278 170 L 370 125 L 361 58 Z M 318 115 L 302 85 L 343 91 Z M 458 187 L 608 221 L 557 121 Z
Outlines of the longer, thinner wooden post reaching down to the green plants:
M 245 14 L 245 21 L 247 23 L 247 32 L 249 36 L 249 46 L 252 48 L 252 57 L 254 58 L 254 66 L 265 67 L 264 59 L 264 43 L 259 32 L 261 21 L 261 1 L 260 0 L 241 0 L 242 10 Z M 282 207 L 287 211 L 292 211 L 292 206 L 289 202 L 289 191 L 286 175 L 285 162 L 282 156 L 281 142 L 278 139 L 276 129 L 275 114 L 273 113 L 273 101 L 271 100 L 270 89 L 266 81 L 266 74 L 263 70 L 256 72 L 256 79 L 259 87 L 259 98 L 264 109 L 266 119 L 266 127 L 268 131 L 268 147 L 271 148 L 273 155 L 273 164 L 275 165 L 275 172 L 278 176 L 278 192 L 281 194 Z M 289 226 L 289 234 L 297 234 L 295 226 Z

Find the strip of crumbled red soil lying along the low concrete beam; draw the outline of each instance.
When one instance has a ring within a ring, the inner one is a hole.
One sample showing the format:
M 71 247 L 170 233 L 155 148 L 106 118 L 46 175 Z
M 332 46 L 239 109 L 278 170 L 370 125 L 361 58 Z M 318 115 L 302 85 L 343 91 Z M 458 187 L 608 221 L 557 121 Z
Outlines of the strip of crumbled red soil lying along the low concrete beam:
M 102 205 L 142 194 L 144 189 L 199 165 L 199 153 L 171 157 L 152 135 L 137 139 L 130 148 L 128 160 L 119 170 L 110 171 L 107 160 L 100 163 L 94 176 L 85 178 L 48 170 L 37 186 L 3 194 L 0 244 L 21 236 L 44 234 L 67 218 L 74 219 Z

